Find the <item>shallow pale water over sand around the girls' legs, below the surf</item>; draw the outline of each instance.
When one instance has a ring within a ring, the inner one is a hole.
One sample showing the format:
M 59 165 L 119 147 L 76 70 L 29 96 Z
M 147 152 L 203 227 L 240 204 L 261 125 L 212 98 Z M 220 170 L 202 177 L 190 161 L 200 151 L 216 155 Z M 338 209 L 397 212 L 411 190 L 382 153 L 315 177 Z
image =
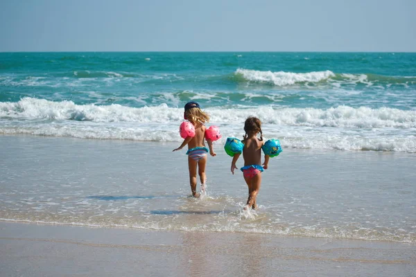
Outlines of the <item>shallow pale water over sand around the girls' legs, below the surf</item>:
M 176 147 L 0 136 L 0 220 L 416 242 L 413 154 L 284 149 L 247 212 L 243 176 L 220 143 L 202 199 L 189 197 Z

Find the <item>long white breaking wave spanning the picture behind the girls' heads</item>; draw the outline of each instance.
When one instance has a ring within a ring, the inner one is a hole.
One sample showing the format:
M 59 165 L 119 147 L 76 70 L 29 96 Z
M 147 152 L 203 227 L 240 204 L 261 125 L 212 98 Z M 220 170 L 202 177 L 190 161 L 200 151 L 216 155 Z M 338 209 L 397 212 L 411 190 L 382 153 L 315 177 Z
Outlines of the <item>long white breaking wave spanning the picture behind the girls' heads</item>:
M 289 107 L 212 107 L 206 109 L 211 120 L 218 123 L 241 123 L 248 116 L 258 116 L 265 124 L 352 127 L 352 128 L 415 128 L 416 111 L 381 107 L 339 106 L 329 109 Z M 154 107 L 126 107 L 123 105 L 76 105 L 72 101 L 53 102 L 37 98 L 23 98 L 18 102 L 0 102 L 0 116 L 15 118 L 78 120 L 94 122 L 166 123 L 182 120 L 182 108 L 166 104 Z

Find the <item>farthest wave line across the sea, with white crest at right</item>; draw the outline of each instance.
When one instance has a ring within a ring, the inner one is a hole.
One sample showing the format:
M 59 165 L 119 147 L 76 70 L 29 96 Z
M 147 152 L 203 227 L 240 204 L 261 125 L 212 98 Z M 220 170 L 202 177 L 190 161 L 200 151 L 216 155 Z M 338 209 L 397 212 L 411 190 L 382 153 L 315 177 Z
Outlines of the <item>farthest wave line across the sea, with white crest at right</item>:
M 97 82 L 122 82 L 123 84 L 148 84 L 164 86 L 166 84 L 194 84 L 196 88 L 215 85 L 226 88 L 230 84 L 250 84 L 250 86 L 266 85 L 279 87 L 282 90 L 324 88 L 345 89 L 371 88 L 413 89 L 416 85 L 415 76 L 385 76 L 370 73 L 334 73 L 333 71 L 312 71 L 306 73 L 284 71 L 257 71 L 236 69 L 232 73 L 211 73 L 198 75 L 193 73 L 139 73 L 135 71 L 94 71 L 77 70 L 64 72 L 49 72 L 37 74 L 0 75 L 0 87 L 73 87 L 83 84 L 96 87 Z M 200 87 L 202 86 L 202 87 Z

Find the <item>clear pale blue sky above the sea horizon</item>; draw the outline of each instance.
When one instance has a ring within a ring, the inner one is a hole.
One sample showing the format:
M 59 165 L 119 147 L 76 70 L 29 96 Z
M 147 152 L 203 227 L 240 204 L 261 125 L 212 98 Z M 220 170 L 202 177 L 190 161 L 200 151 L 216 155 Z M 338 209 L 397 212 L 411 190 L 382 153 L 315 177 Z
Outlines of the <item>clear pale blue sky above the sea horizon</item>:
M 0 51 L 416 52 L 415 0 L 0 0 Z

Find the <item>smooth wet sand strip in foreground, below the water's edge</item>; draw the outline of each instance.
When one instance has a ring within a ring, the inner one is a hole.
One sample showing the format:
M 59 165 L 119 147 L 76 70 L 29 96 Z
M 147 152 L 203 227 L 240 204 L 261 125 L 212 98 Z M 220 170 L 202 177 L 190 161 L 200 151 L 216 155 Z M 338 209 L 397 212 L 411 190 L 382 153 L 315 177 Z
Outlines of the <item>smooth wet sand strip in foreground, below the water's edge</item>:
M 0 222 L 1 276 L 416 276 L 416 247 Z

